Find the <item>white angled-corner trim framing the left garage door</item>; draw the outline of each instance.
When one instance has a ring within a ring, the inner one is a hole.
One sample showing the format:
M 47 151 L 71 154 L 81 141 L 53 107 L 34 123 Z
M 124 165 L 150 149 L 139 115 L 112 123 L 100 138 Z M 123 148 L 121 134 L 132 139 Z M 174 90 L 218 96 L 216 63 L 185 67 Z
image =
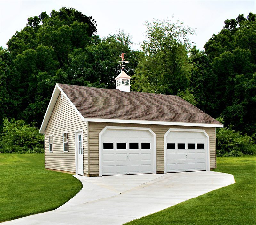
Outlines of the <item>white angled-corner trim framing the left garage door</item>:
M 101 136 L 108 129 L 119 129 L 119 130 L 145 130 L 152 134 L 154 139 L 153 144 L 153 174 L 156 174 L 156 134 L 150 128 L 144 127 L 117 127 L 117 126 L 106 126 L 99 133 L 99 176 L 102 176 L 102 139 Z

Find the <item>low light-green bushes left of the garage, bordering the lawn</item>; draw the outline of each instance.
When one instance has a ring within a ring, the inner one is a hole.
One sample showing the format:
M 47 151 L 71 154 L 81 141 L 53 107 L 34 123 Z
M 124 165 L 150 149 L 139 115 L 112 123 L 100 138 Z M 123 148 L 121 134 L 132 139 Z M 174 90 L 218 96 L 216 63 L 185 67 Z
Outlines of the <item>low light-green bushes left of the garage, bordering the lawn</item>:
M 4 118 L 0 152 L 42 153 L 44 152 L 44 135 L 39 134 L 34 124 L 26 124 L 24 120 L 8 121 Z

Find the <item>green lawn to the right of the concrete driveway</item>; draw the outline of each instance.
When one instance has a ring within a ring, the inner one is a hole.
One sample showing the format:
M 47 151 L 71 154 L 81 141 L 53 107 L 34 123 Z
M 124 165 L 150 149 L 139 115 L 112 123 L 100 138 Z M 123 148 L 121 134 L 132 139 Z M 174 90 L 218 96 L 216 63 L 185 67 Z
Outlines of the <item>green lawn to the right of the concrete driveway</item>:
M 126 225 L 256 224 L 256 157 L 218 157 L 214 171 L 233 174 L 235 184 L 211 191 Z

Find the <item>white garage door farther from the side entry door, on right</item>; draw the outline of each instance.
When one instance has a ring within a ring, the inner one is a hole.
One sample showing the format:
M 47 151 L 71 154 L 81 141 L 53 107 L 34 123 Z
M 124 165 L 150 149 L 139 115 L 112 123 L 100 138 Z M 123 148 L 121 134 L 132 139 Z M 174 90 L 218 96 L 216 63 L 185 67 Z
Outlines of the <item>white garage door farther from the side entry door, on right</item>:
M 208 137 L 205 132 L 172 129 L 165 136 L 166 172 L 207 170 Z

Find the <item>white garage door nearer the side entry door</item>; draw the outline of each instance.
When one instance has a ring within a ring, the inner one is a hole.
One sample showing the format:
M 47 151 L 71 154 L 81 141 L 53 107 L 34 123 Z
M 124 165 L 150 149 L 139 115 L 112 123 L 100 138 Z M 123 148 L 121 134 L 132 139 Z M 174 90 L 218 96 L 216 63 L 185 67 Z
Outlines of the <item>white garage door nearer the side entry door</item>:
M 101 135 L 101 175 L 153 173 L 153 143 L 148 130 L 107 129 Z

